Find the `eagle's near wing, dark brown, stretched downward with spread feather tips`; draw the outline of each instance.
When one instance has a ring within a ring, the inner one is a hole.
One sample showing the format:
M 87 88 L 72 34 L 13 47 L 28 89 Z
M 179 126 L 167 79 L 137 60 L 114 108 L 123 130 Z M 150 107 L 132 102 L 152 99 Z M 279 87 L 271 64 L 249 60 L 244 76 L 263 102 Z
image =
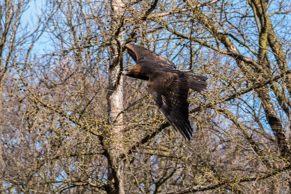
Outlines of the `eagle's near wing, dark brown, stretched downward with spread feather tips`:
M 147 86 L 168 122 L 190 140 L 193 129 L 188 119 L 188 85 L 185 75 L 178 70 L 159 72 L 149 78 Z

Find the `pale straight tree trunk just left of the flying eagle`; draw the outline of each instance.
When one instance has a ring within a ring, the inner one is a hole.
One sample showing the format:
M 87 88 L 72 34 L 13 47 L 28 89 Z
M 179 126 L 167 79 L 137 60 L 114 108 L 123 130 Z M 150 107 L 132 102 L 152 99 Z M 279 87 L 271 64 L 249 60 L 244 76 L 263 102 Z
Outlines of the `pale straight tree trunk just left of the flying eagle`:
M 123 32 L 122 16 L 124 4 L 121 0 L 111 0 L 113 40 L 110 45 L 110 66 L 108 69 L 108 123 L 111 126 L 108 147 L 108 178 L 114 179 L 114 194 L 125 194 L 123 183 L 124 163 L 119 159 L 123 154 L 123 79 L 121 77 Z

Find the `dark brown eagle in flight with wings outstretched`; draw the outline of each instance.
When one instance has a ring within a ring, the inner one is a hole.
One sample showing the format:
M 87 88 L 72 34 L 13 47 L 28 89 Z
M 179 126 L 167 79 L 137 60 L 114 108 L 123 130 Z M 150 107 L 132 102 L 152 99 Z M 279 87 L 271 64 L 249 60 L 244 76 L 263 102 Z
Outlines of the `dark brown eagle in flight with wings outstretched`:
M 188 90 L 206 89 L 208 79 L 193 70 L 178 70 L 175 64 L 144 47 L 125 45 L 136 65 L 124 69 L 122 74 L 147 81 L 149 93 L 175 130 L 191 140 L 193 129 L 189 122 Z

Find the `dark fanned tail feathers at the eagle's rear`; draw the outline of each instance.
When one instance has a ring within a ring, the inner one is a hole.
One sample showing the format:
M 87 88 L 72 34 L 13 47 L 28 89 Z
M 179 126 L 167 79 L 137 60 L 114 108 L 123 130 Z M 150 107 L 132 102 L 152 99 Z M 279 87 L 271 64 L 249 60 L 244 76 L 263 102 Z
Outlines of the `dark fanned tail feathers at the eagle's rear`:
M 192 69 L 189 70 L 181 70 L 184 75 L 186 76 L 188 87 L 196 92 L 202 92 L 207 88 L 207 82 L 208 79 L 205 76 L 193 73 Z

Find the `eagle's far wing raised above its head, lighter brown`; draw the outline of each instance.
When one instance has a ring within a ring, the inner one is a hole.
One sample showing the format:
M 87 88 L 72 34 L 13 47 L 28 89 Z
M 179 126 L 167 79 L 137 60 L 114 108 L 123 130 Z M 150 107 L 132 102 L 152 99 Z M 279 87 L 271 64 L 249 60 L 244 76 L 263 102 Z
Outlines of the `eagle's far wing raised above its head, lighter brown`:
M 130 57 L 137 64 L 141 63 L 150 65 L 161 65 L 167 68 L 177 68 L 173 62 L 142 46 L 129 43 L 125 45 L 125 48 L 127 49 Z

